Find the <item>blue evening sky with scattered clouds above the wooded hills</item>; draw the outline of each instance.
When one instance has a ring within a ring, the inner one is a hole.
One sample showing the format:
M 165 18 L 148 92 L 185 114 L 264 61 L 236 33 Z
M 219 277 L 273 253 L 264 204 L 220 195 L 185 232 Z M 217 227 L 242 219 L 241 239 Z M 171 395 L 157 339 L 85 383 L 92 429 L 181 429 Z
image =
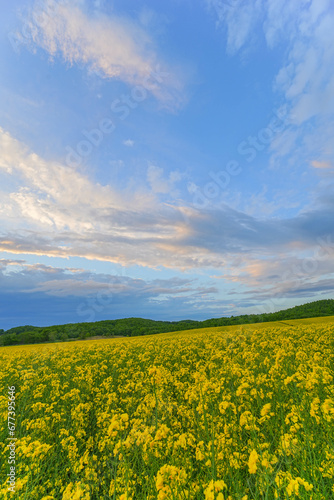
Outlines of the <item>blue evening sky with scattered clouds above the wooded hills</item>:
M 17 0 L 0 328 L 333 298 L 331 0 Z

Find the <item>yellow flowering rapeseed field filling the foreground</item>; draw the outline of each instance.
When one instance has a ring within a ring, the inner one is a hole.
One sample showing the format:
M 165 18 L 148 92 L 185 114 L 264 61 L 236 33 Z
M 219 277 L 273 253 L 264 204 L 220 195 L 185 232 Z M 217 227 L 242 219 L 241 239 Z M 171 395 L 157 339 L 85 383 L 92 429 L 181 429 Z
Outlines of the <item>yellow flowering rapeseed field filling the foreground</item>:
M 333 372 L 334 317 L 3 347 L 0 498 L 334 498 Z

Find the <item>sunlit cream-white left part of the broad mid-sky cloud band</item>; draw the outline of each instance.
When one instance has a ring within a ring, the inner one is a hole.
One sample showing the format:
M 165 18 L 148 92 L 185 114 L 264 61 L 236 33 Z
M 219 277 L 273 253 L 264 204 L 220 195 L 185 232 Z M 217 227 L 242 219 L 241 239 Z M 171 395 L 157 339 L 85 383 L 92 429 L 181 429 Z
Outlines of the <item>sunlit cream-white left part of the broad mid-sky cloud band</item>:
M 101 186 L 45 161 L 2 129 L 0 151 L 0 172 L 18 183 L 0 201 L 2 250 L 168 265 L 170 252 L 157 247 L 170 240 L 178 246 L 187 233 L 178 208 L 161 205 L 152 191 Z

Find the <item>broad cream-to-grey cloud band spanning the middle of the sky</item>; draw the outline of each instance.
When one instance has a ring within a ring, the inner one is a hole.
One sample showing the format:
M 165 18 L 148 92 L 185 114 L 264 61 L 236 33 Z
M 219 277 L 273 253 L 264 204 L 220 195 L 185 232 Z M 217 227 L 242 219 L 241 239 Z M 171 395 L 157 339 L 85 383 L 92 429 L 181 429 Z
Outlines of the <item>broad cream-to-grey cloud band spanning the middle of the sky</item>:
M 197 210 L 177 204 L 169 196 L 179 175 L 166 178 L 160 167 L 148 169 L 151 190 L 116 192 L 71 167 L 44 160 L 3 130 L 0 149 L 0 176 L 4 172 L 16 181 L 2 188 L 0 250 L 16 255 L 228 269 L 236 256 L 275 255 L 279 261 L 283 254 L 310 251 L 319 238 L 334 234 L 328 179 L 311 206 L 294 217 L 272 218 L 256 216 L 250 208 L 245 213 L 228 205 Z

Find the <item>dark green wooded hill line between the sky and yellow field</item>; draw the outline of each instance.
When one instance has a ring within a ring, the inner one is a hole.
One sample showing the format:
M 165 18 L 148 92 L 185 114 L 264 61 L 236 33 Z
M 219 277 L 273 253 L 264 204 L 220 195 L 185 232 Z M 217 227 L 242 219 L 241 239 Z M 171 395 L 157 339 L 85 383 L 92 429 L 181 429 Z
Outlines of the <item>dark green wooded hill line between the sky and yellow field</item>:
M 36 327 L 31 325 L 18 326 L 10 328 L 7 331 L 0 329 L 0 346 L 69 341 L 71 339 L 86 339 L 94 336 L 134 337 L 138 335 L 191 330 L 194 328 L 245 325 L 267 321 L 315 318 L 319 316 L 334 316 L 333 299 L 318 300 L 275 313 L 244 314 L 241 316 L 213 318 L 204 321 L 154 321 L 143 318 L 125 318 L 96 321 L 94 323 L 69 323 L 66 325 L 48 327 Z

